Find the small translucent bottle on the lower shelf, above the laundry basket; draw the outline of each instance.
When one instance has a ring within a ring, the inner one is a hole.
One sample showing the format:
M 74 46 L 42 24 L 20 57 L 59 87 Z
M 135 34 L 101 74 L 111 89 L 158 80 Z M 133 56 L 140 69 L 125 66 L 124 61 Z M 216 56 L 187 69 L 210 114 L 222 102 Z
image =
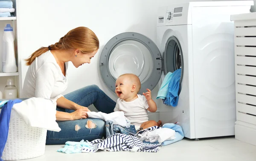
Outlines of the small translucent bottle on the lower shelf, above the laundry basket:
M 18 92 L 14 85 L 14 80 L 12 78 L 7 79 L 6 86 L 3 91 L 4 99 L 15 99 L 17 98 Z

